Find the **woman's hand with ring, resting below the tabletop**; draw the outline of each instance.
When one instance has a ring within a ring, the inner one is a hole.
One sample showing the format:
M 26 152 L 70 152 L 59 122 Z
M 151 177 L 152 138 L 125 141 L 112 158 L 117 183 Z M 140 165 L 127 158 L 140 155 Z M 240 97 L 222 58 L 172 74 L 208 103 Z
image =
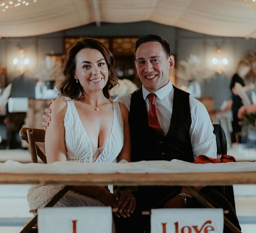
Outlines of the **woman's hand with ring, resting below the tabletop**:
M 133 213 L 136 207 L 136 199 L 131 193 L 131 191 L 120 191 L 118 189 L 114 190 L 114 196 L 118 201 L 117 207 L 119 213 L 125 213 L 128 217 L 130 217 L 130 213 Z

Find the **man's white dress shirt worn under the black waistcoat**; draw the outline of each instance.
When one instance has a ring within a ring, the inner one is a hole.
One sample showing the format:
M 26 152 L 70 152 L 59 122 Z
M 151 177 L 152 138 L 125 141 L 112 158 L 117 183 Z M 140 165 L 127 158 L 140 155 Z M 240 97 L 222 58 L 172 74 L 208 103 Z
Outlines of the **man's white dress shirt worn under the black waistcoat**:
M 147 95 L 151 92 L 142 85 L 142 93 L 148 110 L 149 101 Z M 156 95 L 155 105 L 159 123 L 161 129 L 166 135 L 171 122 L 173 106 L 174 88 L 171 81 L 154 92 L 154 94 Z M 115 101 L 124 104 L 128 111 L 130 111 L 131 94 L 120 95 L 115 99 Z M 213 125 L 206 108 L 200 101 L 191 96 L 189 96 L 189 105 L 192 120 L 189 129 L 189 136 L 191 139 L 192 150 L 194 151 L 194 158 L 201 154 L 217 158 L 215 134 L 213 133 Z

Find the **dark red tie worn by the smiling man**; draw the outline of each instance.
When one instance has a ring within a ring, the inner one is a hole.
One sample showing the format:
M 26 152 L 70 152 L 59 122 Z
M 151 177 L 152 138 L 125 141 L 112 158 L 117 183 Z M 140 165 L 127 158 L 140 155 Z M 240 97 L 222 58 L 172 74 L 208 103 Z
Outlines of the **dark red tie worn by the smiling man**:
M 162 129 L 160 127 L 156 105 L 155 105 L 155 97 L 156 95 L 153 93 L 148 94 L 149 100 L 149 109 L 148 109 L 148 124 L 151 128 L 153 128 L 160 136 L 163 136 Z

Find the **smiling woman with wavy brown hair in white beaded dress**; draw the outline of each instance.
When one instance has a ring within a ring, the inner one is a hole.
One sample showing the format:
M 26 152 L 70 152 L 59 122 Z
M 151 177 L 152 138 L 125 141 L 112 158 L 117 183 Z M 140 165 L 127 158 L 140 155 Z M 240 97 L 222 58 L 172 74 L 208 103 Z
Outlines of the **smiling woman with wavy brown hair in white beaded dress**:
M 131 161 L 128 110 L 109 99 L 110 89 L 117 85 L 114 65 L 111 52 L 92 38 L 80 40 L 69 50 L 64 79 L 58 86 L 60 97 L 50 106 L 51 123 L 45 134 L 47 163 Z M 43 207 L 61 188 L 61 185 L 31 187 L 30 209 Z M 131 192 L 122 196 L 125 201 L 120 203 L 106 187 L 73 186 L 55 206 L 122 205 L 116 215 L 130 216 L 129 210 L 135 208 L 136 201 Z

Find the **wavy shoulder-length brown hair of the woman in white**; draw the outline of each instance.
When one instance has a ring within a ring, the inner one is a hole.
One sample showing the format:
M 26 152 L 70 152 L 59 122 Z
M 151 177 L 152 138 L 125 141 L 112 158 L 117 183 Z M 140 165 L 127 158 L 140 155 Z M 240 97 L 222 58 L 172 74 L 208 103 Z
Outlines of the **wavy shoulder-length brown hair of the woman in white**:
M 109 91 L 118 84 L 118 78 L 114 74 L 115 59 L 112 53 L 102 43 L 93 38 L 82 38 L 76 42 L 68 51 L 63 67 L 64 79 L 58 84 L 59 96 L 67 96 L 73 100 L 80 100 L 83 97 L 83 88 L 76 83 L 74 71 L 76 69 L 76 55 L 82 49 L 96 49 L 103 55 L 108 67 L 108 81 L 103 88 L 103 95 L 109 99 Z

